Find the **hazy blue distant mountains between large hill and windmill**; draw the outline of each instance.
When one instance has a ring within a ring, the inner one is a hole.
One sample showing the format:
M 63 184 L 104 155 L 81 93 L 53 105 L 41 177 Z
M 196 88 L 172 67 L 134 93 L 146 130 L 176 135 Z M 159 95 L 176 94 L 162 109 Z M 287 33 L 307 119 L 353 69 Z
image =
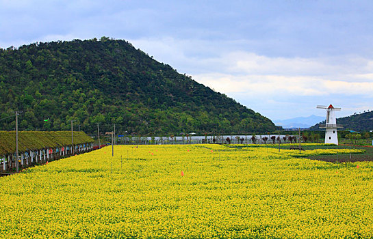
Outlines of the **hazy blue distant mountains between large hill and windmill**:
M 295 117 L 292 119 L 274 120 L 276 126 L 283 128 L 309 128 L 325 120 L 325 117 L 310 115 L 308 117 Z

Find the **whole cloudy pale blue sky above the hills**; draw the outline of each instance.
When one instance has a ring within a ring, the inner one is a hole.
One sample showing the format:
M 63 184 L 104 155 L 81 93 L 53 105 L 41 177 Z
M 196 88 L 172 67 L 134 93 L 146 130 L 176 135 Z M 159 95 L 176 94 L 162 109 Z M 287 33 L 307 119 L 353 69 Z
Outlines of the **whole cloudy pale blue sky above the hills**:
M 373 1 L 0 0 L 0 48 L 128 40 L 272 120 L 344 117 L 373 110 L 372 23 Z

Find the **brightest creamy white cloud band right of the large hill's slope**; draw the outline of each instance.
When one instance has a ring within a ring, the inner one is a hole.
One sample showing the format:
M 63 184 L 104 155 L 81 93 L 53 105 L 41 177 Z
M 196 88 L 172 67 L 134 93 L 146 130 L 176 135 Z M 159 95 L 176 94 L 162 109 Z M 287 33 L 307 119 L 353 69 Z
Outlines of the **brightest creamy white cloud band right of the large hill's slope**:
M 218 92 L 270 96 L 372 96 L 373 82 L 331 81 L 314 76 L 198 74 L 194 78 Z

